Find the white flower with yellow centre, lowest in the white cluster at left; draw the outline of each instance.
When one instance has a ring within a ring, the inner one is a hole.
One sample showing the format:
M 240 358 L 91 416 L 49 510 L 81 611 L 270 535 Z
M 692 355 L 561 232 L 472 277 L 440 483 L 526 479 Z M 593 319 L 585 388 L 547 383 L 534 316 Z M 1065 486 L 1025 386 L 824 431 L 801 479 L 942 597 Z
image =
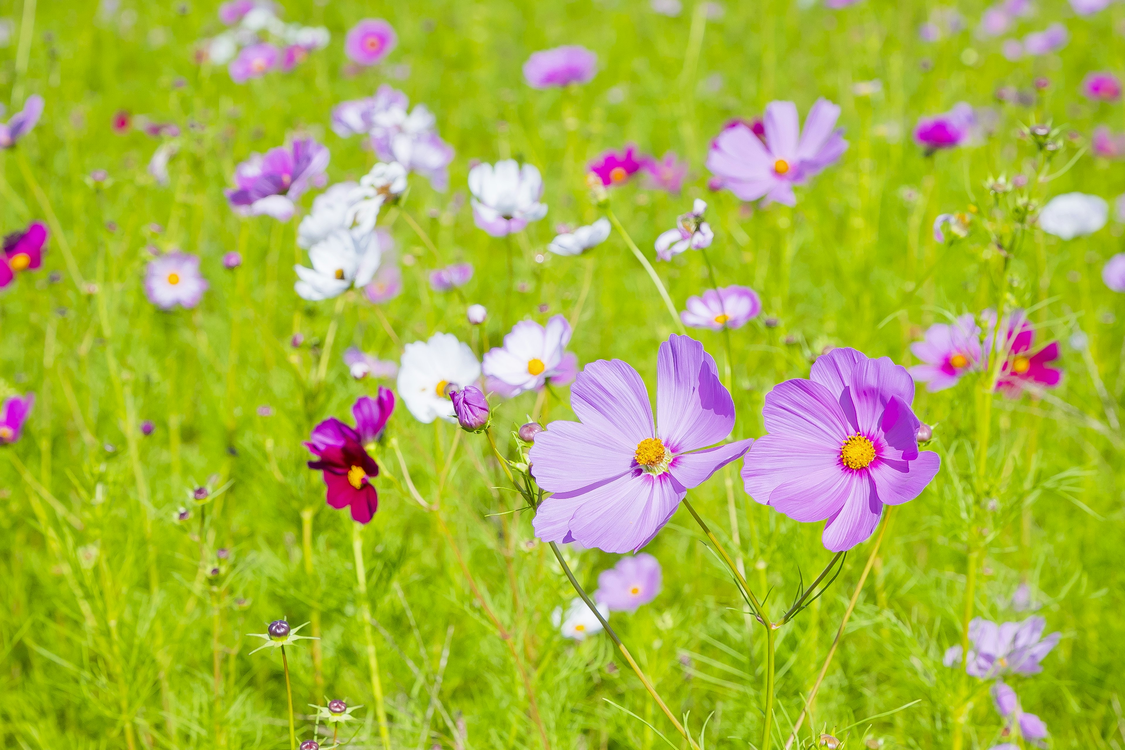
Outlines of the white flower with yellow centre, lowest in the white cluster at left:
M 339 297 L 352 286 L 370 283 L 380 256 L 376 233 L 357 238 L 346 229 L 335 229 L 308 251 L 313 268 L 294 266 L 299 278 L 294 289 L 302 299 L 310 301 Z

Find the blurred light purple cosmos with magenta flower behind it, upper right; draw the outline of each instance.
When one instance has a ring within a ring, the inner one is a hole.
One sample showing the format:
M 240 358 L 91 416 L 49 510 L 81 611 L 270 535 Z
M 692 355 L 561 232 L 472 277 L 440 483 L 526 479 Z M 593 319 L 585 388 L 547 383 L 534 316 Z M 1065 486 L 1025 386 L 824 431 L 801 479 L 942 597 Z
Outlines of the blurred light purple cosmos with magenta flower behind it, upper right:
M 844 129 L 832 129 L 840 108 L 817 99 L 804 120 L 792 101 L 771 101 L 763 118 L 765 142 L 745 123 L 734 123 L 711 142 L 706 168 L 741 200 L 795 206 L 803 184 L 847 150 Z

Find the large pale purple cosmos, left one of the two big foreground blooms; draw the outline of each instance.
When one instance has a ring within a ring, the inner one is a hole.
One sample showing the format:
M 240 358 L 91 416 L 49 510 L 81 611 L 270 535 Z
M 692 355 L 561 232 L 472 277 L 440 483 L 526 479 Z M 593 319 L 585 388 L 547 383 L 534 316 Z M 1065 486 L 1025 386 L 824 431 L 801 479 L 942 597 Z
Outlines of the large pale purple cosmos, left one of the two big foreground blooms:
M 645 381 L 621 360 L 587 364 L 570 388 L 570 408 L 580 422 L 550 423 L 530 453 L 536 481 L 554 493 L 533 524 L 547 542 L 637 551 L 688 489 L 753 442 L 716 445 L 735 426 L 735 403 L 714 360 L 687 336 L 660 344 L 655 425 Z

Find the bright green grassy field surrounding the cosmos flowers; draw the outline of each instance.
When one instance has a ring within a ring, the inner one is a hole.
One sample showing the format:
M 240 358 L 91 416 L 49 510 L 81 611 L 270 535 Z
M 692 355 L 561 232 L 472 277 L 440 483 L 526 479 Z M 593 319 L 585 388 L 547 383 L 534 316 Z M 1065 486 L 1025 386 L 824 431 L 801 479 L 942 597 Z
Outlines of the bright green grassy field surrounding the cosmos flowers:
M 372 451 L 379 506 L 363 526 L 325 504 L 306 467 L 317 423 L 350 423 L 357 397 L 395 387 L 354 379 L 350 346 L 397 362 L 443 332 L 479 358 L 516 322 L 562 314 L 579 368 L 624 360 L 655 395 L 657 347 L 680 328 L 623 233 L 583 256 L 546 250 L 557 225 L 608 208 L 677 309 L 712 279 L 760 296 L 762 314 L 740 328 L 690 329 L 731 385 L 735 439 L 763 435 L 766 394 L 809 377 L 831 347 L 909 367 L 932 324 L 998 306 L 1029 310 L 1036 347 L 1061 346 L 1062 382 L 1045 391 L 993 395 L 991 372 L 939 392 L 918 385 L 914 409 L 934 425 L 940 471 L 875 532 L 878 551 L 874 539 L 855 546 L 826 594 L 777 629 L 772 663 L 714 544 L 685 509 L 672 517 L 645 548 L 663 590 L 610 622 L 692 742 L 766 744 L 773 672 L 768 737 L 784 747 L 847 612 L 794 747 L 821 733 L 873 750 L 1030 747 L 1006 734 L 994 680 L 943 657 L 972 617 L 1032 615 L 1061 640 L 1041 674 L 1006 681 L 1045 722 L 1045 747 L 1125 747 L 1125 316 L 1101 279 L 1122 250 L 1113 202 L 1125 171 L 1090 150 L 1096 127 L 1125 129 L 1125 110 L 1119 96 L 1081 92 L 1090 72 L 1125 73 L 1125 3 L 1080 16 L 1042 0 L 990 37 L 983 9 L 965 2 L 695 2 L 673 17 L 680 3 L 654 2 L 657 12 L 641 0 L 286 0 L 287 21 L 331 40 L 244 83 L 206 60 L 202 40 L 225 28 L 209 0 L 0 4 L 4 117 L 32 94 L 45 101 L 36 127 L 0 151 L 0 226 L 51 231 L 43 268 L 0 290 L 0 399 L 35 394 L 22 435 L 0 445 L 0 742 L 286 748 L 291 713 L 307 740 L 309 704 L 342 698 L 362 705 L 336 738 L 357 748 L 688 748 L 606 633 L 576 641 L 552 622 L 574 589 L 485 436 L 422 424 L 399 396 Z M 368 17 L 389 21 L 397 45 L 363 66 L 344 39 Z M 927 22 L 935 40 L 919 34 Z M 1055 22 L 1064 46 L 1005 56 L 1006 39 Z M 565 44 L 596 53 L 593 80 L 529 87 L 528 56 Z M 285 222 L 240 216 L 224 189 L 252 153 L 306 137 L 331 151 L 328 182 L 358 180 L 377 156 L 333 132 L 332 110 L 385 83 L 434 114 L 456 152 L 449 189 L 411 174 L 379 214 L 399 296 L 307 301 L 294 292 L 292 266 L 307 264 L 297 226 L 321 187 Z M 798 188 L 795 207 L 709 189 L 709 144 L 724 124 L 773 100 L 803 118 L 820 97 L 842 108 L 848 148 Z M 978 137 L 936 153 L 916 143 L 920 117 L 962 101 L 978 108 Z M 115 127 L 119 112 L 128 123 Z M 1025 130 L 1037 124 L 1059 128 L 1058 153 Z M 598 207 L 587 164 L 626 144 L 688 160 L 682 192 L 637 175 Z M 158 148 L 171 154 L 166 179 L 151 169 Z M 539 168 L 549 210 L 496 238 L 474 224 L 468 171 L 510 157 Z M 989 189 L 1017 175 L 1024 187 Z M 1071 191 L 1105 198 L 1110 220 L 1063 241 L 1035 215 Z M 695 198 L 713 244 L 656 261 L 657 236 Z M 947 226 L 947 242 L 935 240 L 946 213 L 969 217 L 966 237 Z M 1016 240 L 997 246 L 989 227 Z M 162 310 L 145 270 L 177 250 L 200 259 L 209 287 L 191 309 Z M 226 269 L 232 251 L 242 264 Z M 432 288 L 431 271 L 462 262 L 467 284 Z M 488 308 L 483 325 L 467 320 L 470 304 Z M 575 418 L 566 386 L 490 401 L 490 435 L 516 462 L 521 424 Z M 755 503 L 740 469 L 687 498 L 780 617 L 831 553 L 821 524 Z M 621 557 L 561 550 L 591 593 Z M 1030 603 L 1014 606 L 1017 589 Z M 320 639 L 286 648 L 287 671 L 278 649 L 251 653 L 269 643 L 251 634 L 282 617 Z

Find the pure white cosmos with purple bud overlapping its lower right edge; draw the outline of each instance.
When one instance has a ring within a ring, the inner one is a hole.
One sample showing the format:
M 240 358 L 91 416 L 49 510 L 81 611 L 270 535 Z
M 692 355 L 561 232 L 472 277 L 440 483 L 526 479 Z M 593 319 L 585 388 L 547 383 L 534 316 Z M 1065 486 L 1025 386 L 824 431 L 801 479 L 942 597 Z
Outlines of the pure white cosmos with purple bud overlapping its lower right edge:
M 454 421 L 447 386 L 465 388 L 480 377 L 480 363 L 468 344 L 451 333 L 435 333 L 429 341 L 403 347 L 398 395 L 414 418 L 430 424 L 438 417 Z

